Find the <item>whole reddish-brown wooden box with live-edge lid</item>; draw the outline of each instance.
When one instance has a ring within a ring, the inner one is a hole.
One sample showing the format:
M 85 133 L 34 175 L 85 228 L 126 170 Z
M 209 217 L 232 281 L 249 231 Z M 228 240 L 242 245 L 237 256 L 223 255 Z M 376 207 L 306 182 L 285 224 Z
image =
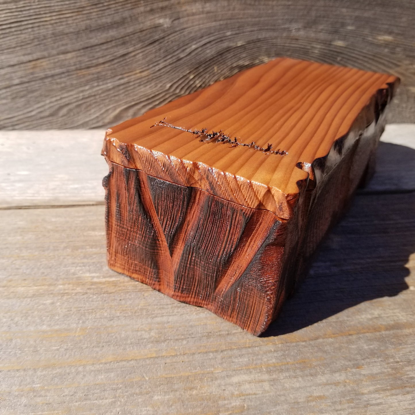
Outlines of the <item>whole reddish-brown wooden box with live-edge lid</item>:
M 110 268 L 261 334 L 373 171 L 397 84 L 277 59 L 108 130 Z

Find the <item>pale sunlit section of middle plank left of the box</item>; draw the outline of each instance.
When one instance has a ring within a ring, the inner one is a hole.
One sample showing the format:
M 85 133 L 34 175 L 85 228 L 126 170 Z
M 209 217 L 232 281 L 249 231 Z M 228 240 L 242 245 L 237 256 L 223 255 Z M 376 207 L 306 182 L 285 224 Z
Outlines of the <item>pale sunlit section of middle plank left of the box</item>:
M 104 134 L 0 132 L 0 207 L 104 203 Z

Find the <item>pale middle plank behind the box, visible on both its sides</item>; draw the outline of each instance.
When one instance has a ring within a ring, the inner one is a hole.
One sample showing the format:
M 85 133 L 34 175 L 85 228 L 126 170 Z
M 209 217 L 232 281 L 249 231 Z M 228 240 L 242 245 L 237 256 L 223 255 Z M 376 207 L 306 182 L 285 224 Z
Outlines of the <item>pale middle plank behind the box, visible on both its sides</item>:
M 1 131 L 0 207 L 103 203 L 104 130 Z M 364 193 L 415 190 L 415 124 L 387 125 Z M 385 144 L 389 143 L 389 144 Z

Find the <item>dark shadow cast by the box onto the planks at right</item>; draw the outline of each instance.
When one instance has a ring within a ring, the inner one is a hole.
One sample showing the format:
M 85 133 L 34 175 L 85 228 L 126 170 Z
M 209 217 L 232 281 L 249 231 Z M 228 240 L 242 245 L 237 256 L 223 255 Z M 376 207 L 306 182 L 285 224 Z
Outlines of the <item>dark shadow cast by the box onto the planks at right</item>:
M 391 163 L 390 171 L 404 176 L 415 163 L 415 151 L 380 143 L 378 166 Z M 358 193 L 302 286 L 262 336 L 295 332 L 364 301 L 398 295 L 408 289 L 405 264 L 414 251 L 415 191 Z

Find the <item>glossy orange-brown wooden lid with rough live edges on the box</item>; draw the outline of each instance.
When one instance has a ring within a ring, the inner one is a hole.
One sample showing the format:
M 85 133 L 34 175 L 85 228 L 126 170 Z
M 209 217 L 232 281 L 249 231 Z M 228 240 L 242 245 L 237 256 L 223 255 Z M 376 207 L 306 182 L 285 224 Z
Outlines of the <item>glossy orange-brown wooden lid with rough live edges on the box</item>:
M 103 154 L 288 219 L 313 162 L 340 139 L 341 159 L 398 83 L 382 73 L 278 58 L 108 129 Z

